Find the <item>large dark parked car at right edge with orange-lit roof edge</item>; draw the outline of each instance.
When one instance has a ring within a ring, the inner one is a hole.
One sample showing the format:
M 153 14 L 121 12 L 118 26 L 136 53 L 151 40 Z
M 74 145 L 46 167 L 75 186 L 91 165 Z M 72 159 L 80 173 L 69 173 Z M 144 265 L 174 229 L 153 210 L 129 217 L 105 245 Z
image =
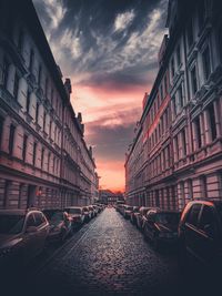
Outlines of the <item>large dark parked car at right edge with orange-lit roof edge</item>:
M 180 264 L 222 265 L 222 202 L 193 201 L 186 204 L 179 224 Z M 184 267 L 184 266 L 183 266 Z M 203 268 L 213 272 L 213 268 Z

